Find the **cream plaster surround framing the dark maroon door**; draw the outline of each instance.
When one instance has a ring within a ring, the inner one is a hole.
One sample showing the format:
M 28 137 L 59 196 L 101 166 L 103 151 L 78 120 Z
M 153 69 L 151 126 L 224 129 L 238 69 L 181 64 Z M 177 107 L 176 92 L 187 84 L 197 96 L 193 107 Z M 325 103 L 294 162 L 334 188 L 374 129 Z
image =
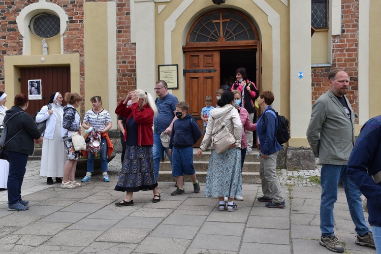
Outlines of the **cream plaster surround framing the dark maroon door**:
M 20 92 L 21 67 L 70 66 L 70 90 L 79 93 L 79 54 L 44 55 L 45 62 L 41 62 L 41 55 L 4 56 L 5 92 L 12 106 L 13 98 Z M 12 99 L 10 99 L 12 98 Z

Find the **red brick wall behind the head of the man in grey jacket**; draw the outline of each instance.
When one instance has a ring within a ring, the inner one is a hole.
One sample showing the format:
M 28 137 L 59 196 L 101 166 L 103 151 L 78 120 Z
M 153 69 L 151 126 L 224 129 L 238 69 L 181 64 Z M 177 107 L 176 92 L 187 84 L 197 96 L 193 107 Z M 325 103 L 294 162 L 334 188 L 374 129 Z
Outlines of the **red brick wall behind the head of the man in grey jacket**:
M 359 1 L 341 1 L 341 34 L 332 37 L 332 67 L 313 68 L 312 104 L 329 89 L 328 74 L 334 69 L 344 69 L 350 76 L 346 98 L 351 103 L 358 123 L 358 42 Z

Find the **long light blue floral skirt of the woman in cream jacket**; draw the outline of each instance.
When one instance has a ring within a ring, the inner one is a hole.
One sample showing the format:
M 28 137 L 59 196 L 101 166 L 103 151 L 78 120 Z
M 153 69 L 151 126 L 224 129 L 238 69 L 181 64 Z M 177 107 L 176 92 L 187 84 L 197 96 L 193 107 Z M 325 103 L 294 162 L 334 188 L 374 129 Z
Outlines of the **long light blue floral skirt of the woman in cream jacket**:
M 219 154 L 212 150 L 204 195 L 208 198 L 242 196 L 240 148 L 229 148 Z

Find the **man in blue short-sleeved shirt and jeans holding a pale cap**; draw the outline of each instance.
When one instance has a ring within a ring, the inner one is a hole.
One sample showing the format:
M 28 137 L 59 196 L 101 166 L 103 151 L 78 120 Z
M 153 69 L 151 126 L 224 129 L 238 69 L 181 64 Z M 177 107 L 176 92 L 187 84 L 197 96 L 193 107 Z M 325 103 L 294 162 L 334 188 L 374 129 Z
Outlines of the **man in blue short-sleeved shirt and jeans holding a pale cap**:
M 168 85 L 164 80 L 159 80 L 155 84 L 155 92 L 158 96 L 156 107 L 157 116 L 153 118 L 153 161 L 155 163 L 156 181 L 160 167 L 160 160 L 163 152 L 166 151 L 169 161 L 172 165 L 172 155 L 169 155 L 169 147 L 164 147 L 160 135 L 162 132 L 171 134 L 173 122 L 176 118 L 176 104 L 179 102 L 175 96 L 168 93 Z

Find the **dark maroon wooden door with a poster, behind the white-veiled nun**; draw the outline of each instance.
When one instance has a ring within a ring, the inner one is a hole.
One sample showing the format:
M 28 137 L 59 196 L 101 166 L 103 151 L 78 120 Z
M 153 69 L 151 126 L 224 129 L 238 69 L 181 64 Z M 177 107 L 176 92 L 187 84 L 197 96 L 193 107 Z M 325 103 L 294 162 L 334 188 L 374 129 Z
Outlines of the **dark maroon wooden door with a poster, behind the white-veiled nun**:
M 42 99 L 29 100 L 29 106 L 25 110 L 33 116 L 49 102 L 52 92 L 60 92 L 65 97 L 70 92 L 70 67 L 46 67 L 46 68 L 21 68 L 20 69 L 20 91 L 29 94 L 28 80 L 41 79 Z M 62 103 L 66 105 L 65 100 Z

